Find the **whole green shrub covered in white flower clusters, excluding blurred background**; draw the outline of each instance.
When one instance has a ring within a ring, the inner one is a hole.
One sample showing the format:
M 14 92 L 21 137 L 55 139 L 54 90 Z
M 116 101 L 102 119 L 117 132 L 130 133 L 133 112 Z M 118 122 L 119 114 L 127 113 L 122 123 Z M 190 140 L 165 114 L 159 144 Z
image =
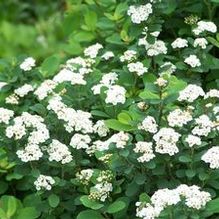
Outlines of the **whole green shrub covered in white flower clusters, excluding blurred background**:
M 5 64 L 1 218 L 217 218 L 219 90 L 200 76 L 217 27 L 190 16 L 163 39 L 163 7 L 127 8 L 128 47 Z

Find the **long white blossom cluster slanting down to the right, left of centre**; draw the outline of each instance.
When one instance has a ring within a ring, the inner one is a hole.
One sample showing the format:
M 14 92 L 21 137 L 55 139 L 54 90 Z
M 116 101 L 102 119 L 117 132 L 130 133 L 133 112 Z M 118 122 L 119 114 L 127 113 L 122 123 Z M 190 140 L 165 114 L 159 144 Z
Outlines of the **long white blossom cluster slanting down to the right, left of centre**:
M 48 110 L 52 110 L 58 119 L 64 121 L 64 127 L 67 132 L 81 131 L 83 133 L 93 132 L 93 122 L 91 121 L 91 114 L 82 110 L 74 110 L 67 107 L 62 98 L 58 95 L 53 96 L 49 100 L 47 106 Z

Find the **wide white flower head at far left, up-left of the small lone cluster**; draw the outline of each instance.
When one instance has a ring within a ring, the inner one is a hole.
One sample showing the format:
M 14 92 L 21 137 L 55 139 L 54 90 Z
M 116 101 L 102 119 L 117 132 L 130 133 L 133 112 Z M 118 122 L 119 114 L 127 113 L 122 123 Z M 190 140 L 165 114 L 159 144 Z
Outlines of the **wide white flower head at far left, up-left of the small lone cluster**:
M 39 160 L 43 156 L 37 144 L 28 144 L 23 150 L 18 150 L 16 154 L 23 162 Z

